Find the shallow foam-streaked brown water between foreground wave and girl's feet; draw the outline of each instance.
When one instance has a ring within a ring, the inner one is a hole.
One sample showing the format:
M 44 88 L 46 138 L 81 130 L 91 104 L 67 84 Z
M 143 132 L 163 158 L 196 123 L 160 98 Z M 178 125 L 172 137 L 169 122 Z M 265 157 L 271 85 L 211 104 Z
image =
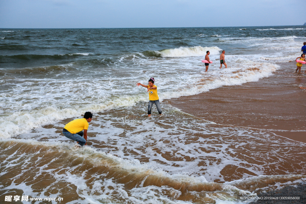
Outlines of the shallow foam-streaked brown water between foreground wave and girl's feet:
M 146 106 L 147 102 L 139 102 L 132 108 L 96 114 L 88 145 L 130 161 L 136 158 L 148 169 L 162 169 L 172 176 L 205 176 L 202 182 L 303 173 L 305 158 L 296 154 L 305 148 L 303 143 L 259 129 L 213 124 L 166 104 L 163 111 L 167 117 L 147 118 L 141 113 Z M 59 122 L 18 138 L 69 141 L 61 134 L 64 125 Z M 249 156 L 242 156 L 245 154 Z M 289 161 L 294 165 L 283 165 Z

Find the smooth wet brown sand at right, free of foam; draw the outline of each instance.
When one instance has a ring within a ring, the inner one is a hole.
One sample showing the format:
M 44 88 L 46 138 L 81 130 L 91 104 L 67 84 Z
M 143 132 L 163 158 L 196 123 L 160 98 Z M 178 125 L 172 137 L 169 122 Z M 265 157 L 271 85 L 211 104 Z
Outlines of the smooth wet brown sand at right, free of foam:
M 306 74 L 293 73 L 293 62 L 278 65 L 274 76 L 257 82 L 165 102 L 217 124 L 259 128 L 306 143 L 306 91 L 299 88 L 306 85 Z

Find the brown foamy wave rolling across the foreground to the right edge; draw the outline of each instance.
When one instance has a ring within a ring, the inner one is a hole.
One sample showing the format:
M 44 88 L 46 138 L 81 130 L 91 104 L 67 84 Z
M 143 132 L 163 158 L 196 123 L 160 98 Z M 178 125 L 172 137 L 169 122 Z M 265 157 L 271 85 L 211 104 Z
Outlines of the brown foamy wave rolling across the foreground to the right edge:
M 70 193 L 73 197 L 85 198 L 83 201 L 79 199 L 79 203 L 86 203 L 89 200 L 140 202 L 143 194 L 150 198 L 150 202 L 156 203 L 165 201 L 166 203 L 230 203 L 239 202 L 239 196 L 256 195 L 248 191 L 248 187 L 261 188 L 267 180 L 272 184 L 284 181 L 298 182 L 306 178 L 302 175 L 258 176 L 220 184 L 206 182 L 205 179 L 203 181 L 203 177 L 171 176 L 159 169 L 147 169 L 146 165 L 140 164 L 139 161 L 123 160 L 91 147 L 75 150 L 75 146 L 69 143 L 10 139 L 2 140 L 0 145 L 2 155 L 14 152 L 2 161 L 5 168 L 0 175 L 6 175 L 5 190 L 22 187 L 27 195 L 37 197 L 42 196 L 37 190 L 43 188 L 48 191 L 54 185 L 60 184 L 65 185 L 67 190 L 62 189 L 49 196 L 64 197 Z M 32 161 L 35 165 L 28 165 L 27 161 Z M 49 162 L 45 164 L 45 161 Z M 14 176 L 10 173 L 12 168 L 18 169 Z M 54 168 L 62 170 L 54 171 Z M 37 171 L 38 174 L 25 185 L 27 177 L 24 175 Z M 55 179 L 56 182 L 47 182 L 50 179 Z M 244 188 L 239 189 L 239 187 Z M 156 191 L 159 192 L 158 195 L 154 195 Z

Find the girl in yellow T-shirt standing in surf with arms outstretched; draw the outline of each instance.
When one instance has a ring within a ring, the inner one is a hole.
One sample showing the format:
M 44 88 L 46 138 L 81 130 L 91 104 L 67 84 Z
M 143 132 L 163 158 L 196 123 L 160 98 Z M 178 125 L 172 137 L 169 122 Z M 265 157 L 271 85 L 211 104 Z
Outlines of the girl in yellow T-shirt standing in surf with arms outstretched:
M 153 106 L 153 103 L 155 103 L 155 106 L 157 108 L 157 111 L 159 113 L 159 115 L 162 114 L 162 110 L 160 109 L 160 105 L 159 105 L 159 97 L 157 95 L 157 86 L 154 85 L 154 77 L 152 77 L 149 80 L 148 85 L 144 85 L 142 83 L 137 83 L 137 86 L 141 85 L 143 87 L 146 87 L 148 89 L 147 92 L 149 92 L 149 106 L 148 106 L 148 117 L 151 116 L 151 108 Z

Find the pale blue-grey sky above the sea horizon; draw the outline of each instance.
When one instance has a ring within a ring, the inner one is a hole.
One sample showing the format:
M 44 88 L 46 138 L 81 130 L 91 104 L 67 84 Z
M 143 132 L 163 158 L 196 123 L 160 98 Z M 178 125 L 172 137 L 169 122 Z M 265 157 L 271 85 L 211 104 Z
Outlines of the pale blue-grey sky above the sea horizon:
M 0 0 L 0 28 L 302 25 L 305 0 Z

